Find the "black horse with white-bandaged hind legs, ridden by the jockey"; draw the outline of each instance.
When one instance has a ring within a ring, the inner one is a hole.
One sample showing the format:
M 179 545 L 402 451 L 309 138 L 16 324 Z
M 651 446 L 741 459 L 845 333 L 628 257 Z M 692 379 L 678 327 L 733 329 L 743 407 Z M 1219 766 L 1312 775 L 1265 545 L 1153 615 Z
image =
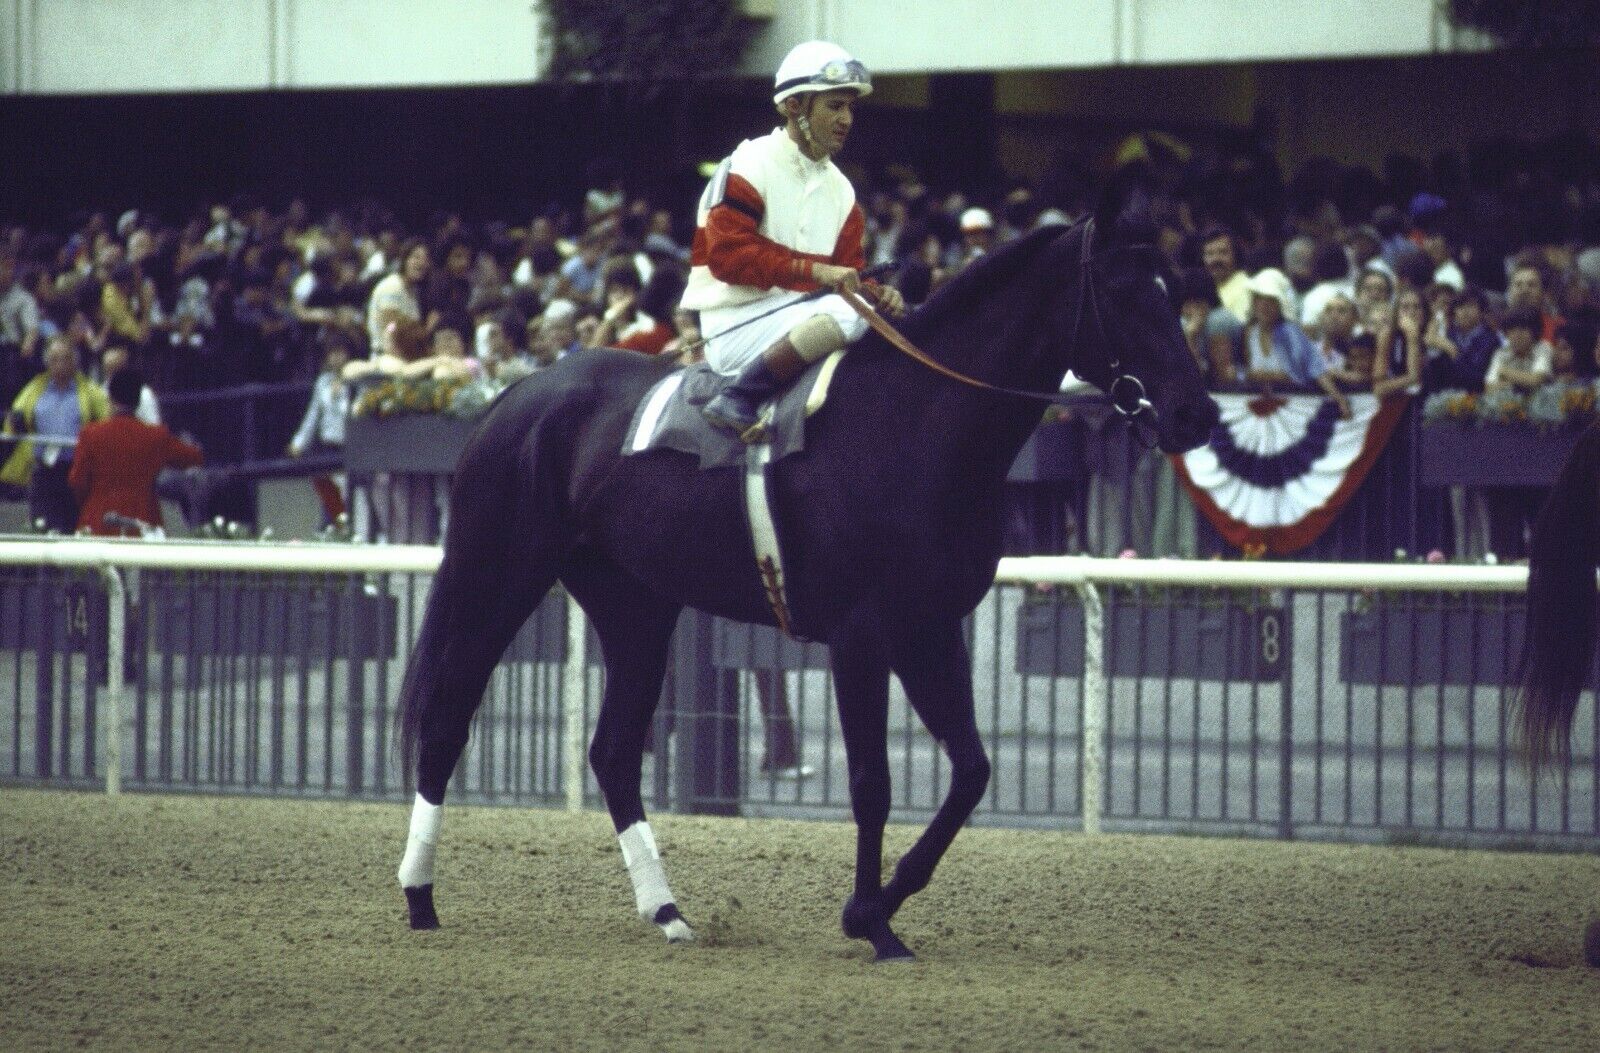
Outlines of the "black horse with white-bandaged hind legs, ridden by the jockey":
M 1102 206 L 1032 232 L 970 266 L 902 331 L 946 366 L 989 384 L 1054 390 L 1070 368 L 1154 418 L 1163 450 L 1208 437 L 1202 389 L 1160 277 L 1152 229 Z M 678 613 L 773 624 L 752 555 L 738 469 L 701 470 L 672 451 L 622 456 L 643 394 L 667 366 L 586 350 L 509 389 L 469 442 L 451 488 L 445 555 L 398 711 L 419 802 L 400 879 L 413 927 L 435 925 L 437 807 L 501 651 L 562 581 L 605 655 L 589 751 L 634 877 L 640 912 L 690 939 L 640 797 L 642 754 Z M 941 376 L 869 333 L 834 376 L 806 445 L 778 461 L 770 494 L 789 607 L 832 648 L 858 826 L 843 930 L 880 960 L 910 952 L 890 930 L 989 783 L 962 634 L 994 584 L 1006 469 L 1040 419 L 1037 400 Z M 888 679 L 950 759 L 933 823 L 885 885 L 890 813 Z

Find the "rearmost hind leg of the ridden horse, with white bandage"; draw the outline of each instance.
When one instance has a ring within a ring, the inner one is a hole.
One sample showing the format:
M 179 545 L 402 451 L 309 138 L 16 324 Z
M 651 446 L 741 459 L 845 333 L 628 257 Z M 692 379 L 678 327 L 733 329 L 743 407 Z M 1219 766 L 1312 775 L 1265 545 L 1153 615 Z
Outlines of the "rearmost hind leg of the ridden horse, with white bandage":
M 477 568 L 474 568 L 477 570 Z M 518 573 L 520 571 L 520 573 Z M 411 928 L 438 928 L 434 909 L 434 858 L 443 821 L 445 786 L 467 744 L 472 714 L 483 701 L 490 674 L 517 629 L 554 584 L 555 575 L 533 576 L 528 568 L 507 568 L 498 599 L 485 595 L 483 583 L 464 575 L 446 555 L 429 594 L 422 632 L 406 669 L 405 695 L 422 704 L 418 727 L 418 779 L 411 827 L 400 861 Z M 514 583 L 506 587 L 506 581 Z

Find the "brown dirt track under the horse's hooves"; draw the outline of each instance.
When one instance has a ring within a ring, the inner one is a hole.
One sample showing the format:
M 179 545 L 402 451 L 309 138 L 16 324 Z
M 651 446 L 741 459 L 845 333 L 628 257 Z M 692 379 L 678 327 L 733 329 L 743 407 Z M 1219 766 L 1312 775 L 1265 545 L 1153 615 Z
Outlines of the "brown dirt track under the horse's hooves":
M 693 947 L 602 815 L 0 791 L 0 1048 L 1600 1048 L 1600 858 L 966 831 L 874 967 L 853 829 L 658 816 Z M 891 827 L 891 856 L 914 837 Z

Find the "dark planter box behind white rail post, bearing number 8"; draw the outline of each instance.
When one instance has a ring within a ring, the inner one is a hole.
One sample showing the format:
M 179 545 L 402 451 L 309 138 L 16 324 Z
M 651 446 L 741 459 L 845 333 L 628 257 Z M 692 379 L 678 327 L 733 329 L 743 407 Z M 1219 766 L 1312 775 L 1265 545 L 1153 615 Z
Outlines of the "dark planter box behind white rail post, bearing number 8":
M 1114 602 L 1106 611 L 1107 675 L 1179 680 L 1282 680 L 1288 619 L 1282 607 Z M 1083 674 L 1083 608 L 1074 600 L 1024 603 L 1018 672 Z

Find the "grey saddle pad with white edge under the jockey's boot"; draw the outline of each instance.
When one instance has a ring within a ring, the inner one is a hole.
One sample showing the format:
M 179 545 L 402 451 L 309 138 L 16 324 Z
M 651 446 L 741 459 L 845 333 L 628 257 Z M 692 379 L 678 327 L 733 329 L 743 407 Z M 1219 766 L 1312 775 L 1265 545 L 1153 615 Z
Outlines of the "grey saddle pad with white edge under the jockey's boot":
M 766 429 L 771 458 L 778 461 L 805 448 L 805 419 L 827 398 L 827 386 L 845 352 L 835 350 L 822 362 L 806 366 L 794 384 L 778 397 L 778 408 Z M 701 410 L 733 382 L 704 362 L 670 373 L 658 381 L 634 410 L 634 421 L 622 438 L 622 453 L 643 450 L 678 450 L 699 458 L 701 467 L 744 464 L 744 443 L 733 432 L 712 427 Z

